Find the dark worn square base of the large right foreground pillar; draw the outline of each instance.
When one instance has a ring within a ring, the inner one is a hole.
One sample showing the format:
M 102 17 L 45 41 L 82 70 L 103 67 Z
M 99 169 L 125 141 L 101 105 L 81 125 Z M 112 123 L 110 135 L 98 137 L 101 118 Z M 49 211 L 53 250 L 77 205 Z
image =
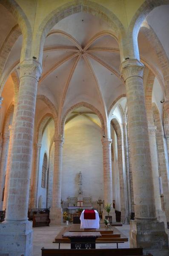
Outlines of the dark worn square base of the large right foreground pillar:
M 143 249 L 168 249 L 168 236 L 163 222 L 152 220 L 130 221 L 130 247 Z

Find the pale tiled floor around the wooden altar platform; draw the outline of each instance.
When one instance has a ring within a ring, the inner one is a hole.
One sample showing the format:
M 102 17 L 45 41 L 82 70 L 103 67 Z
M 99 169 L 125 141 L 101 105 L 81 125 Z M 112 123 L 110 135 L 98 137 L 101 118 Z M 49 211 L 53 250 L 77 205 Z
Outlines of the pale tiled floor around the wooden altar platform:
M 51 225 L 50 227 L 35 227 L 33 238 L 33 256 L 41 256 L 41 248 L 58 248 L 58 244 L 53 244 L 55 236 L 60 232 L 62 225 Z M 122 227 L 116 227 L 125 236 L 129 237 L 129 225 L 123 224 Z M 119 244 L 119 248 L 129 248 L 129 241 Z M 60 244 L 60 248 L 70 248 L 70 244 Z M 96 248 L 116 248 L 116 244 L 96 244 Z

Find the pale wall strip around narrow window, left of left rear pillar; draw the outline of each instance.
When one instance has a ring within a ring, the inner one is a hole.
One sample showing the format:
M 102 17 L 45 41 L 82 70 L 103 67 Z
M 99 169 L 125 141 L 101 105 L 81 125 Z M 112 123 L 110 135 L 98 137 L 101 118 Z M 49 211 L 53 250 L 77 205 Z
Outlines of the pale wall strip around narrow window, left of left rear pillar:
M 51 120 L 43 132 L 42 146 L 40 149 L 38 198 L 40 198 L 40 196 L 42 196 L 42 207 L 43 208 L 46 208 L 46 186 L 47 186 L 47 172 L 46 172 L 46 186 L 45 186 L 45 188 L 41 187 L 43 157 L 44 157 L 44 154 L 46 153 L 47 159 L 49 162 L 49 148 L 50 148 L 50 144 L 51 144 L 53 135 L 54 135 L 54 121 Z

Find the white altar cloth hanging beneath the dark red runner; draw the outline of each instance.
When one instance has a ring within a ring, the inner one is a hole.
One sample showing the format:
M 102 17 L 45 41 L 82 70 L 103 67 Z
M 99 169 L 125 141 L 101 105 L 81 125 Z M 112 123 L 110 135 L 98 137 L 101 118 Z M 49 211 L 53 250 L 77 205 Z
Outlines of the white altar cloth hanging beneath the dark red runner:
M 80 215 L 80 228 L 97 228 L 99 229 L 99 215 L 98 212 L 95 210 L 96 219 L 95 220 L 87 220 L 84 219 L 84 211 Z

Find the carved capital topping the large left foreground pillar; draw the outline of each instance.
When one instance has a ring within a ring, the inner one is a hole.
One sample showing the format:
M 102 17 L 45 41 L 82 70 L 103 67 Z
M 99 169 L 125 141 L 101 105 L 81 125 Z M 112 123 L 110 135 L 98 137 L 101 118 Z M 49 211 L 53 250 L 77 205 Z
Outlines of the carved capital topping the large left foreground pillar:
M 19 65 L 19 69 L 20 79 L 24 76 L 31 76 L 37 79 L 37 81 L 40 79 L 40 75 L 43 71 L 40 62 L 33 59 L 23 60 Z

